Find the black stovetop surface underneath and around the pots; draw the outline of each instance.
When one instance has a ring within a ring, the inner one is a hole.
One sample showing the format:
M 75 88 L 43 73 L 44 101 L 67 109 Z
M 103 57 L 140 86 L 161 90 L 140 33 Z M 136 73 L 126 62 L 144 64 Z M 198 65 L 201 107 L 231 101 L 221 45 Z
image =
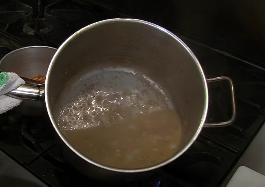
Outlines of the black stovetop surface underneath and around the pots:
M 41 2 L 38 4 L 38 2 Z M 4 1 L 0 3 L 0 58 L 29 46 L 59 45 L 93 22 L 129 15 L 104 5 L 74 1 Z M 140 16 L 137 18 L 141 18 Z M 207 78 L 228 76 L 234 82 L 237 116 L 228 127 L 204 128 L 183 156 L 150 178 L 125 184 L 95 181 L 77 172 L 54 141 L 48 117 L 26 117 L 11 110 L 0 115 L 0 149 L 54 187 L 87 184 L 100 187 L 218 186 L 264 122 L 265 73 L 251 63 L 179 35 L 199 59 Z M 229 86 L 210 83 L 207 122 L 231 116 Z

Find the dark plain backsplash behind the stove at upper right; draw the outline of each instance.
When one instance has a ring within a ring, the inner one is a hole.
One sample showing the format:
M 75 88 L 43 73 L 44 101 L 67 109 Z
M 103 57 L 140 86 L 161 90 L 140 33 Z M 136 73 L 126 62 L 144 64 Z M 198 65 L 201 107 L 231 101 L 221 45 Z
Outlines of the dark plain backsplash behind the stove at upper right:
M 78 0 L 83 3 L 88 0 Z M 265 1 L 101 0 L 173 31 L 265 63 Z

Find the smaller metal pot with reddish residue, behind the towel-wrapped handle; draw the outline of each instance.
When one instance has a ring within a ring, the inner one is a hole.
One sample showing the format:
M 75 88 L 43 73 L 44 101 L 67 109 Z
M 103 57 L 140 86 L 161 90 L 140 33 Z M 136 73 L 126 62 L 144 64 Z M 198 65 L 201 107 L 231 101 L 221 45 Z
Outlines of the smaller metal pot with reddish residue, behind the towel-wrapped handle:
M 1 59 L 0 71 L 15 72 L 22 77 L 46 75 L 56 50 L 56 48 L 47 46 L 29 46 L 16 49 Z M 31 85 L 33 83 L 29 82 Z M 24 100 L 14 110 L 27 116 L 40 116 L 47 113 L 45 103 L 42 101 Z

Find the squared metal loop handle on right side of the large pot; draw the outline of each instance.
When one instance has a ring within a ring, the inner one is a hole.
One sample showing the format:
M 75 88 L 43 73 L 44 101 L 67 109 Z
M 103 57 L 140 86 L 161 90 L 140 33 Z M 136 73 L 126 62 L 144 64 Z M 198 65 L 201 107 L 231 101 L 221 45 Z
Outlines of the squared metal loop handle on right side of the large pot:
M 232 80 L 227 77 L 227 76 L 219 76 L 219 77 L 214 77 L 214 78 L 210 78 L 210 79 L 206 79 L 207 82 L 217 82 L 217 81 L 228 81 L 229 85 L 230 85 L 230 89 L 231 89 L 231 101 L 232 101 L 232 117 L 230 118 L 230 120 L 226 121 L 226 122 L 218 122 L 218 123 L 205 123 L 204 127 L 224 127 L 224 126 L 228 126 L 231 125 L 234 120 L 235 120 L 235 116 L 236 116 L 236 112 L 235 112 L 235 99 L 234 99 L 234 86 L 233 86 L 233 82 Z

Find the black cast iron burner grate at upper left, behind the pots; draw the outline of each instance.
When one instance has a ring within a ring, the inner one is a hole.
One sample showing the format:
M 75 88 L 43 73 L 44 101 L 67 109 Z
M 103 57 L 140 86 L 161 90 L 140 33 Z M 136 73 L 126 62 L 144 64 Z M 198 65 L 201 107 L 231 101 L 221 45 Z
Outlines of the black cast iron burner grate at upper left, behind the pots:
M 0 3 L 0 29 L 25 42 L 28 36 L 35 43 L 58 47 L 67 37 L 82 27 L 118 14 L 91 6 L 84 10 L 68 0 L 25 1 L 11 0 Z

